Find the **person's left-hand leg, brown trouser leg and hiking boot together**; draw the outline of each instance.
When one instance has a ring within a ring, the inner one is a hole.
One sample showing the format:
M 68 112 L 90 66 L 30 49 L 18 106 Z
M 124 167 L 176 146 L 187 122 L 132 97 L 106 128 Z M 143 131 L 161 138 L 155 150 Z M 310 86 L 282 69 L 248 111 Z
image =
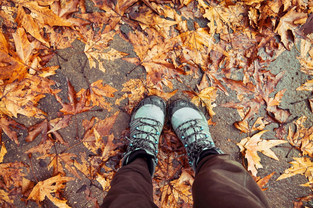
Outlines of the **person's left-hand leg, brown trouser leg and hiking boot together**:
M 144 98 L 133 110 L 129 123 L 131 142 L 101 207 L 157 207 L 153 203 L 152 176 L 165 114 L 166 104 L 156 96 Z

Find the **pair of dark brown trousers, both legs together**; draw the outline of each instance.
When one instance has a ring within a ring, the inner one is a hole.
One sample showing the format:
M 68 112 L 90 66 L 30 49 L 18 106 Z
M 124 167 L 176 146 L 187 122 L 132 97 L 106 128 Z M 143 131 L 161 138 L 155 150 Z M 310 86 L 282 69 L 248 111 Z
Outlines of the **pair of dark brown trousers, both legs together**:
M 227 154 L 203 158 L 192 185 L 193 207 L 270 207 L 259 186 L 241 164 Z M 147 163 L 137 158 L 121 167 L 101 207 L 157 207 Z

